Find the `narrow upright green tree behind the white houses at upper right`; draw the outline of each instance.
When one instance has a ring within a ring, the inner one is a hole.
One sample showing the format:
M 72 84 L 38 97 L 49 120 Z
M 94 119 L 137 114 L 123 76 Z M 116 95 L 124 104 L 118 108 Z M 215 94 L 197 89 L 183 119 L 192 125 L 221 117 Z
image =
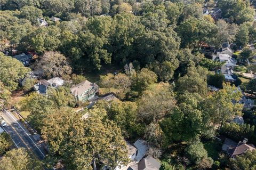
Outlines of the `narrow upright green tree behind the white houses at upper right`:
M 236 44 L 238 46 L 243 47 L 243 46 L 245 46 L 246 44 L 249 43 L 249 39 L 250 39 L 249 29 L 245 24 L 240 25 L 238 28 L 239 29 L 238 29 L 238 32 L 237 32 L 236 37 L 235 37 L 236 38 Z

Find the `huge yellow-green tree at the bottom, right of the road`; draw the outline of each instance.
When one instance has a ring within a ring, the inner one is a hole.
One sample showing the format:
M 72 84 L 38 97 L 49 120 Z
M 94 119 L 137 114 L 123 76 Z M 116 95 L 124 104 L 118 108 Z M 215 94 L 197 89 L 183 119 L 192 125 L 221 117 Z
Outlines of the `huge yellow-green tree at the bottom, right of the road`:
M 110 120 L 81 119 L 76 112 L 61 108 L 44 119 L 42 134 L 50 146 L 49 160 L 61 157 L 67 169 L 96 169 L 99 161 L 115 168 L 129 160 L 121 130 Z

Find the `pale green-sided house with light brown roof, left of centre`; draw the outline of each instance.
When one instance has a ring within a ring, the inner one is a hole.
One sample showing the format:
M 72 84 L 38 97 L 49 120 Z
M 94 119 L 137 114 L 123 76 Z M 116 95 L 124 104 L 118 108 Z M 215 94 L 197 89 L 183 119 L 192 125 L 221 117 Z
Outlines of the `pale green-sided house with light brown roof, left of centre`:
M 85 80 L 84 82 L 71 87 L 70 91 L 75 96 L 76 100 L 85 102 L 92 99 L 99 92 L 99 86 Z

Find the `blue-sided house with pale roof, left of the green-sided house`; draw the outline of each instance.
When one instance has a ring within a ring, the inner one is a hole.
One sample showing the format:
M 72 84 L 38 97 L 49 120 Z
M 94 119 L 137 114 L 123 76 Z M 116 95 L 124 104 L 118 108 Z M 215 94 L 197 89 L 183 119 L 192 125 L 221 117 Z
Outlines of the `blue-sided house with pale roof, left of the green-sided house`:
M 59 77 L 54 77 L 49 80 L 40 80 L 39 83 L 33 86 L 34 90 L 39 94 L 46 94 L 49 87 L 59 87 L 64 84 L 64 80 Z

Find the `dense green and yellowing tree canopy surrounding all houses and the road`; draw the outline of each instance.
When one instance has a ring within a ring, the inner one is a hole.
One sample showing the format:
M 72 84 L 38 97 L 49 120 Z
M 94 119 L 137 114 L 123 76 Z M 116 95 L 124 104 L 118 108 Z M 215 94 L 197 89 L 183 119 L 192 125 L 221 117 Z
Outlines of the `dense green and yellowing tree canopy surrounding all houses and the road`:
M 0 134 L 0 169 L 58 164 L 95 170 L 103 163 L 114 170 L 129 164 L 125 140 L 138 139 L 147 141 L 147 155 L 161 162 L 161 170 L 255 169 L 256 151 L 232 159 L 218 139 L 246 138 L 256 145 L 255 107 L 232 102 L 244 93 L 255 97 L 256 79 L 245 82 L 239 75 L 227 82 L 217 73 L 223 63 L 212 60 L 223 44 L 231 44 L 235 71 L 256 74 L 255 48 L 249 48 L 256 46 L 255 4 L 0 0 L 0 108 L 28 112 L 27 120 L 49 146 L 39 161 L 25 149 L 11 149 L 9 136 Z M 205 13 L 216 9 L 219 16 Z M 11 57 L 22 53 L 33 55 L 30 67 Z M 38 79 L 20 87 L 20 79 L 35 70 L 39 79 L 61 77 L 67 83 L 47 95 L 32 92 Z M 99 85 L 100 96 L 113 93 L 118 100 L 76 111 L 88 102 L 76 101 L 70 87 L 86 79 Z M 17 91 L 26 95 L 14 104 Z M 232 122 L 236 116 L 243 116 L 243 125 Z

